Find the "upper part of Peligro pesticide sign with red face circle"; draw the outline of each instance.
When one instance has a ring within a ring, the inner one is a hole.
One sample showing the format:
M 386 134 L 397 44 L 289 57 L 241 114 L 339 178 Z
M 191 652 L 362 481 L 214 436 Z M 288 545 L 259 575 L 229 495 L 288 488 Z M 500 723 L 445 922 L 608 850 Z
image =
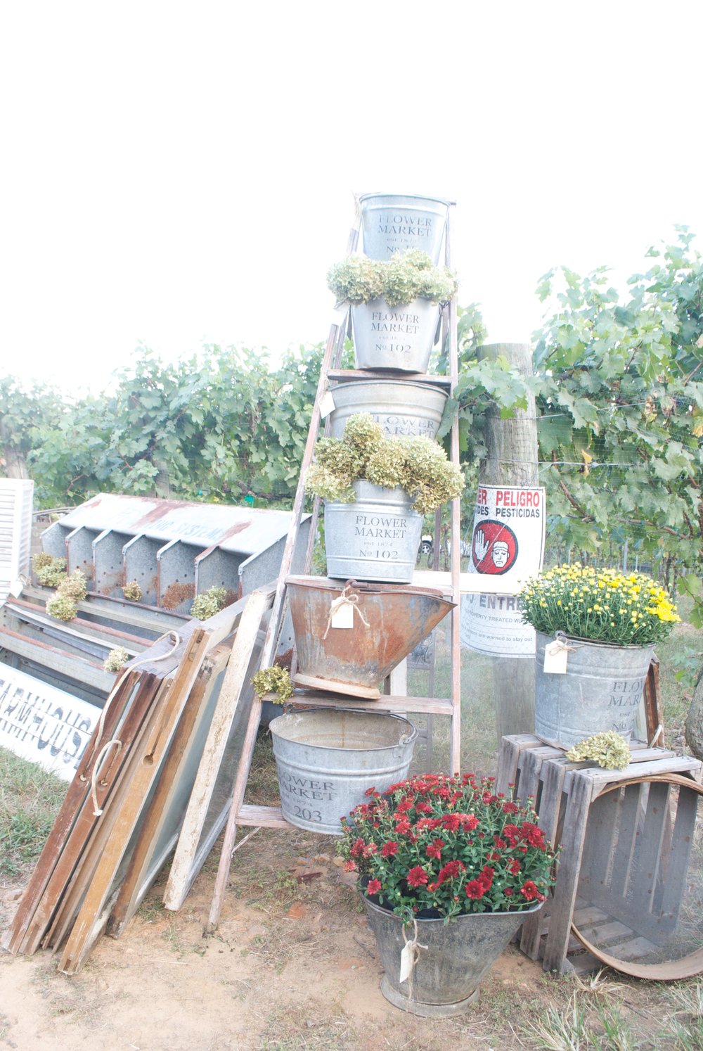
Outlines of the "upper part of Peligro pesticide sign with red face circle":
M 483 578 L 476 591 L 514 595 L 521 580 L 539 573 L 543 551 L 544 490 L 479 486 L 469 564 L 469 573 Z

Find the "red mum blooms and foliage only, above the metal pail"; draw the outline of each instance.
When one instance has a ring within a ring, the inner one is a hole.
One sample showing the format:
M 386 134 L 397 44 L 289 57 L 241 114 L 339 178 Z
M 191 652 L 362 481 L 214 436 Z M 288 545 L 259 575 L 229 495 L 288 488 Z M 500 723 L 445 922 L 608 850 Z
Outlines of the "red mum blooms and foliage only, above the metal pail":
M 342 819 L 337 852 L 368 898 L 405 919 L 524 911 L 554 884 L 534 809 L 496 795 L 492 778 L 422 774 L 367 796 Z

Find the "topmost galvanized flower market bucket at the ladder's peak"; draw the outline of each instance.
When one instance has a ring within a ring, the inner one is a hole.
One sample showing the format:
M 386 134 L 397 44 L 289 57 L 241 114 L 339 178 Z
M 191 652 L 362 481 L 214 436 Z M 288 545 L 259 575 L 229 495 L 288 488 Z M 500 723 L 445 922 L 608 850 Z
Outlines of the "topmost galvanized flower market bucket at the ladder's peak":
M 393 252 L 420 248 L 439 262 L 449 201 L 404 193 L 363 193 L 359 198 L 364 252 L 388 260 Z

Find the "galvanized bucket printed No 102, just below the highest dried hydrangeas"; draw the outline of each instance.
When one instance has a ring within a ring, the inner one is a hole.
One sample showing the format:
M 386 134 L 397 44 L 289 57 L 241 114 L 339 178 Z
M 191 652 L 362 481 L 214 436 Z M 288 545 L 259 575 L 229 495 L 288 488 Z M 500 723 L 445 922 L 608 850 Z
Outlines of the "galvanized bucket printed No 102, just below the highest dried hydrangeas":
M 351 312 L 357 369 L 427 372 L 439 321 L 436 303 L 413 300 L 389 307 L 386 300 L 371 300 Z

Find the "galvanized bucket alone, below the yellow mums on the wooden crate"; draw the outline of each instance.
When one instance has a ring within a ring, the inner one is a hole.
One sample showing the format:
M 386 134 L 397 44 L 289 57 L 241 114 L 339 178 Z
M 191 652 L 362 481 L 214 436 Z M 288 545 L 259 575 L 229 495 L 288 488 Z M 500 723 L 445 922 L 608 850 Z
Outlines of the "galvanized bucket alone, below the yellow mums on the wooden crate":
M 535 734 L 562 748 L 603 730 L 629 741 L 654 647 L 565 641 L 565 674 L 544 672 L 544 647 L 554 638 L 537 632 Z

